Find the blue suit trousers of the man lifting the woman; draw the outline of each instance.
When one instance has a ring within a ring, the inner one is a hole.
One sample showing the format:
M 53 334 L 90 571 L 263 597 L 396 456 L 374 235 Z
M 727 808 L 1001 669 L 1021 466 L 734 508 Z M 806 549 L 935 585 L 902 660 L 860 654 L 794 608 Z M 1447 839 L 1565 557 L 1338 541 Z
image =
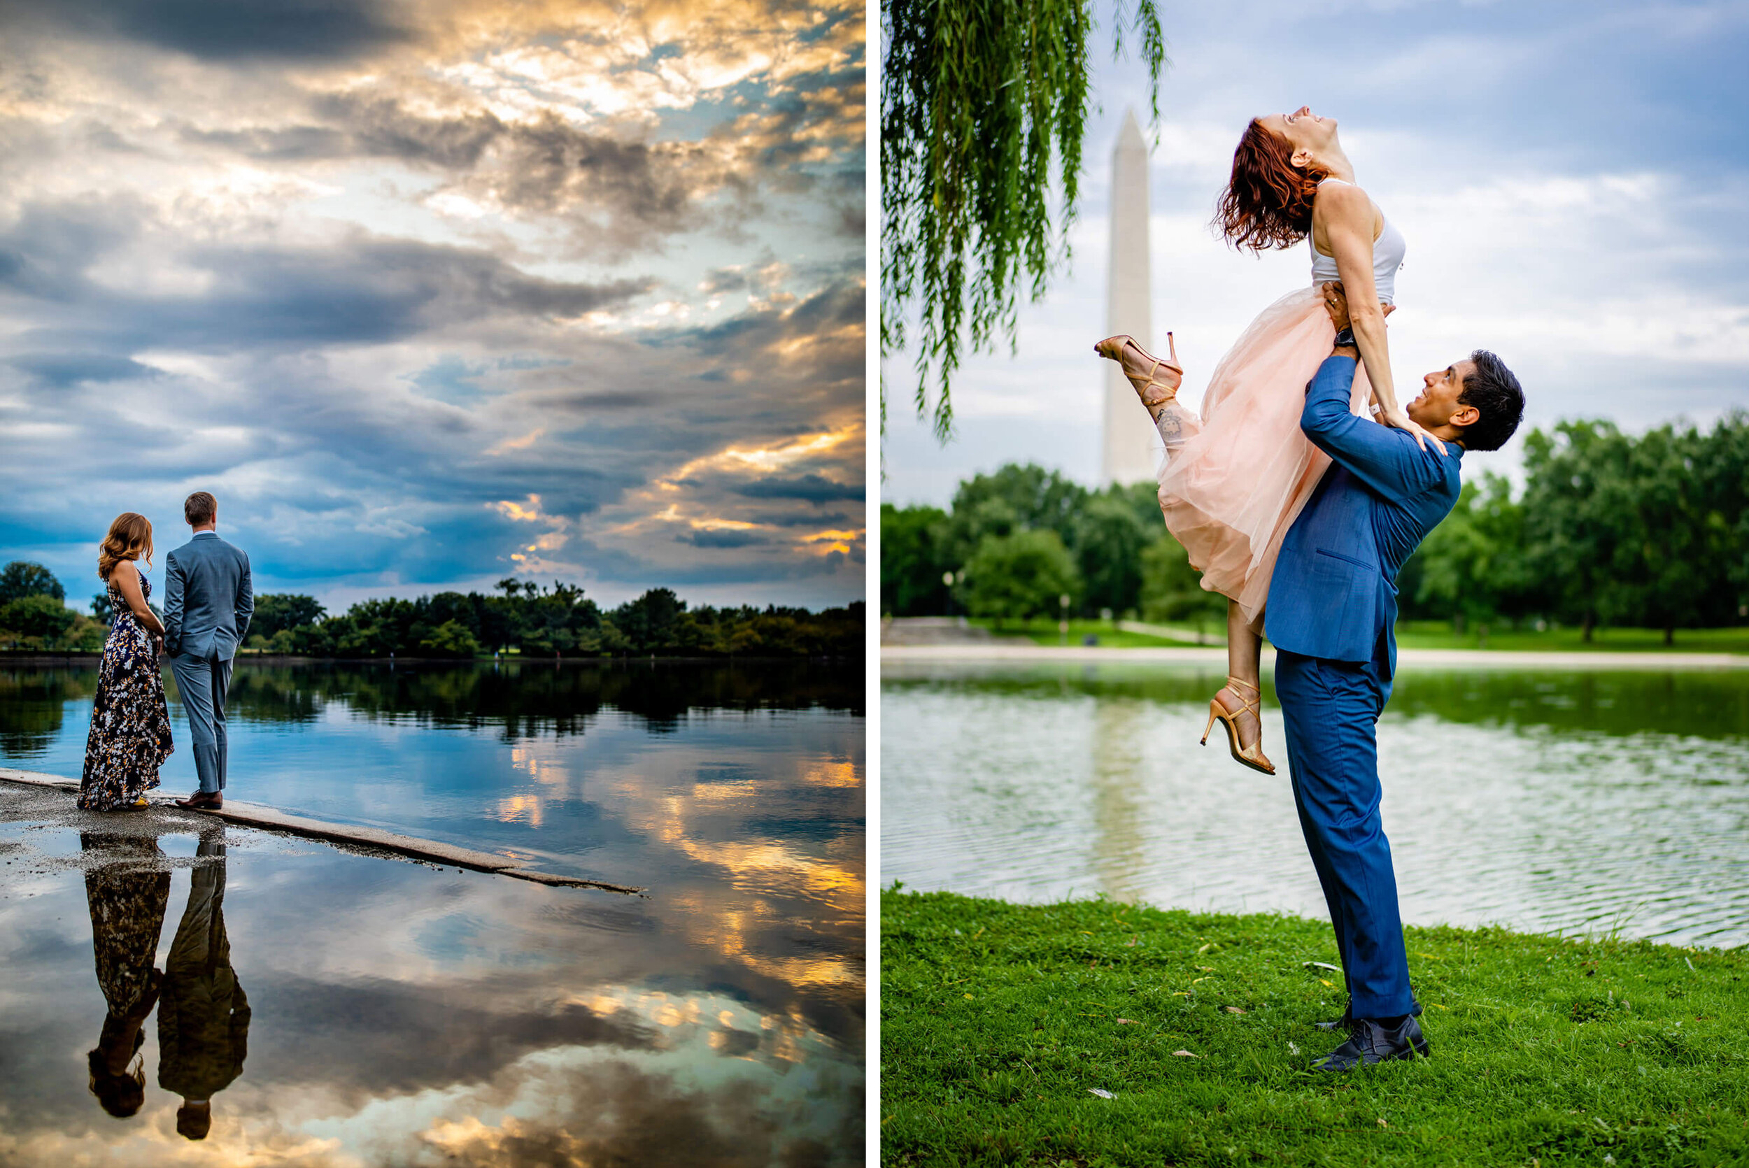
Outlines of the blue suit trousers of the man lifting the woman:
M 1336 928 L 1348 1005 L 1355 1018 L 1417 1012 L 1397 876 L 1378 817 L 1376 722 L 1390 698 L 1383 650 L 1354 664 L 1279 649 L 1275 696 L 1287 722 L 1300 829 Z

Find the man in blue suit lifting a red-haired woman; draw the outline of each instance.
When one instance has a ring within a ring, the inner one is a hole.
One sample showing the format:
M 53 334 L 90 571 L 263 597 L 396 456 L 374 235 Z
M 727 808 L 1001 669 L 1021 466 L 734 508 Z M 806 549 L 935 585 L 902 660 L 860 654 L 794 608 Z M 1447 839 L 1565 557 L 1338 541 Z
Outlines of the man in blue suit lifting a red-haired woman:
M 1397 568 L 1457 504 L 1467 451 L 1499 449 L 1523 390 L 1476 350 L 1422 379 L 1408 416 L 1429 435 L 1348 413 L 1359 350 L 1340 285 L 1324 285 L 1336 346 L 1307 385 L 1300 427 L 1331 467 L 1282 540 L 1265 635 L 1287 724 L 1300 827 L 1336 928 L 1348 1009 L 1326 1030 L 1348 1040 L 1315 1070 L 1427 1053 L 1410 991 L 1390 843 L 1378 817 L 1376 722 L 1397 664 Z

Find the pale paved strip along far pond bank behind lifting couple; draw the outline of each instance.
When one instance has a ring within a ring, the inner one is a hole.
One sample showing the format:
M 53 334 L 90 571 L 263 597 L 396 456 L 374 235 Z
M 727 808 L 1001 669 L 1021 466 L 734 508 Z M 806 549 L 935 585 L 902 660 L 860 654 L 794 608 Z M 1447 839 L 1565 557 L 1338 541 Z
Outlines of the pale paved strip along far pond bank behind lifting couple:
M 1098 645 L 881 645 L 881 666 L 906 663 L 1100 663 L 1219 664 L 1226 649 L 1105 649 Z M 1263 668 L 1275 650 L 1263 650 Z M 1495 649 L 1401 649 L 1399 670 L 1749 670 L 1749 656 L 1730 652 L 1508 652 Z

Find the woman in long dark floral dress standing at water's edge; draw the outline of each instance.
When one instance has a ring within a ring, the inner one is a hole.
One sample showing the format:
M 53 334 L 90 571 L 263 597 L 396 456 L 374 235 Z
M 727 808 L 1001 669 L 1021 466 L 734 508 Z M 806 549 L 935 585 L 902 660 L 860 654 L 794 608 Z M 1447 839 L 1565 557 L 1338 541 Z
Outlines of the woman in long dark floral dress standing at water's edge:
M 115 617 L 103 642 L 86 773 L 79 780 L 79 806 L 86 811 L 143 808 L 145 792 L 157 787 L 157 768 L 175 748 L 164 677 L 157 671 L 164 626 L 145 603 L 152 582 L 140 570 L 142 556 L 150 567 L 152 523 L 131 511 L 115 516 L 98 553 L 98 575 L 108 584 Z

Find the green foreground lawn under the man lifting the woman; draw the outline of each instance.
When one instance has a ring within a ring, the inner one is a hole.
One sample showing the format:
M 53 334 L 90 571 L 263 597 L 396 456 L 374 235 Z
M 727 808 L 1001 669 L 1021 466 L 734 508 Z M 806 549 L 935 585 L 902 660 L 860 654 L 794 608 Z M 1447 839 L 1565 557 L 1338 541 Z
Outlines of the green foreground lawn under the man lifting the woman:
M 883 890 L 881 1163 L 1749 1163 L 1746 949 L 1406 934 L 1432 1058 L 1324 1075 L 1326 921 Z

